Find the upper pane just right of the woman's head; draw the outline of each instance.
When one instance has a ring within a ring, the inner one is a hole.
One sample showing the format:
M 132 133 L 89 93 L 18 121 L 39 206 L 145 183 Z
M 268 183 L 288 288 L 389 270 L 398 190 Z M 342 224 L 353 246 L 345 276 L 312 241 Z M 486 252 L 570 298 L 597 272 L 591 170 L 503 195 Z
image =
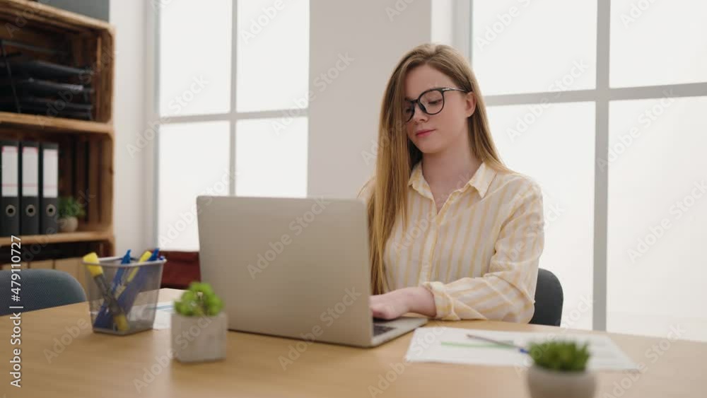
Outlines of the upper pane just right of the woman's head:
M 473 4 L 472 63 L 485 95 L 595 88 L 596 1 Z

